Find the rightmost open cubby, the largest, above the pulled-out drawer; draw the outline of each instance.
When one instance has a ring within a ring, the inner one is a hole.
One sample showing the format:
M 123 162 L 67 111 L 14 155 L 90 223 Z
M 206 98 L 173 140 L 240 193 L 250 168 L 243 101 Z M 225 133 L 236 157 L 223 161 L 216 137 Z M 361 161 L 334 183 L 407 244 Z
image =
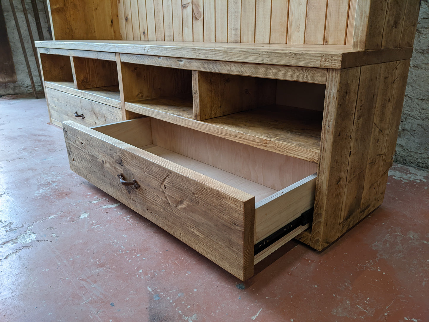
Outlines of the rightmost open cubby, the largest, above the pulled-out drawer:
M 196 120 L 244 134 L 243 143 L 318 162 L 325 85 L 193 73 Z

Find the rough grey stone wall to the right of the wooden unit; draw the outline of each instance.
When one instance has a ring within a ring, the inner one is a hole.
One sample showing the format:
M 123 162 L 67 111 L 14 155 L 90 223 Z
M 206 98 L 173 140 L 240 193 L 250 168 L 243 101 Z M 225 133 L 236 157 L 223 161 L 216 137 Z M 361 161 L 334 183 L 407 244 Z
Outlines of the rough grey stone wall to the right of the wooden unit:
M 429 169 L 429 0 L 420 4 L 395 161 Z

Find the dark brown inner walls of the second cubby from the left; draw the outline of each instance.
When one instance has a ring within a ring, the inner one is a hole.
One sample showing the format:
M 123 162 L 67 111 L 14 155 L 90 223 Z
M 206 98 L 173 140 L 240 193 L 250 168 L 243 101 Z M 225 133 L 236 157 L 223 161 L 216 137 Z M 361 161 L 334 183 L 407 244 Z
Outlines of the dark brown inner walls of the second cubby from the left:
M 118 85 L 115 61 L 72 57 L 72 64 L 77 89 Z

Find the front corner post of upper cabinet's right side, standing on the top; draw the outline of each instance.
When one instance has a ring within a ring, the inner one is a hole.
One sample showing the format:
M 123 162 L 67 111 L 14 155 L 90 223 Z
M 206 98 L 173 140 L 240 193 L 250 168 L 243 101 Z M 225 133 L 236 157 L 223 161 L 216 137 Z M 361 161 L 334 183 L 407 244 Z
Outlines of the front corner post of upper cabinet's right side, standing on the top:
M 381 49 L 386 11 L 386 0 L 357 2 L 353 28 L 353 49 Z

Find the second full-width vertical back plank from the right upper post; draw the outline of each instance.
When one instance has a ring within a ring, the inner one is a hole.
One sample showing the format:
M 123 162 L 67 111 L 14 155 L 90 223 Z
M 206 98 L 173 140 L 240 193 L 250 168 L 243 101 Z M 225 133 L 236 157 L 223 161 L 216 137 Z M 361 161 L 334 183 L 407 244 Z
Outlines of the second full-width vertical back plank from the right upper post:
M 327 0 L 308 0 L 305 24 L 305 43 L 323 45 Z

